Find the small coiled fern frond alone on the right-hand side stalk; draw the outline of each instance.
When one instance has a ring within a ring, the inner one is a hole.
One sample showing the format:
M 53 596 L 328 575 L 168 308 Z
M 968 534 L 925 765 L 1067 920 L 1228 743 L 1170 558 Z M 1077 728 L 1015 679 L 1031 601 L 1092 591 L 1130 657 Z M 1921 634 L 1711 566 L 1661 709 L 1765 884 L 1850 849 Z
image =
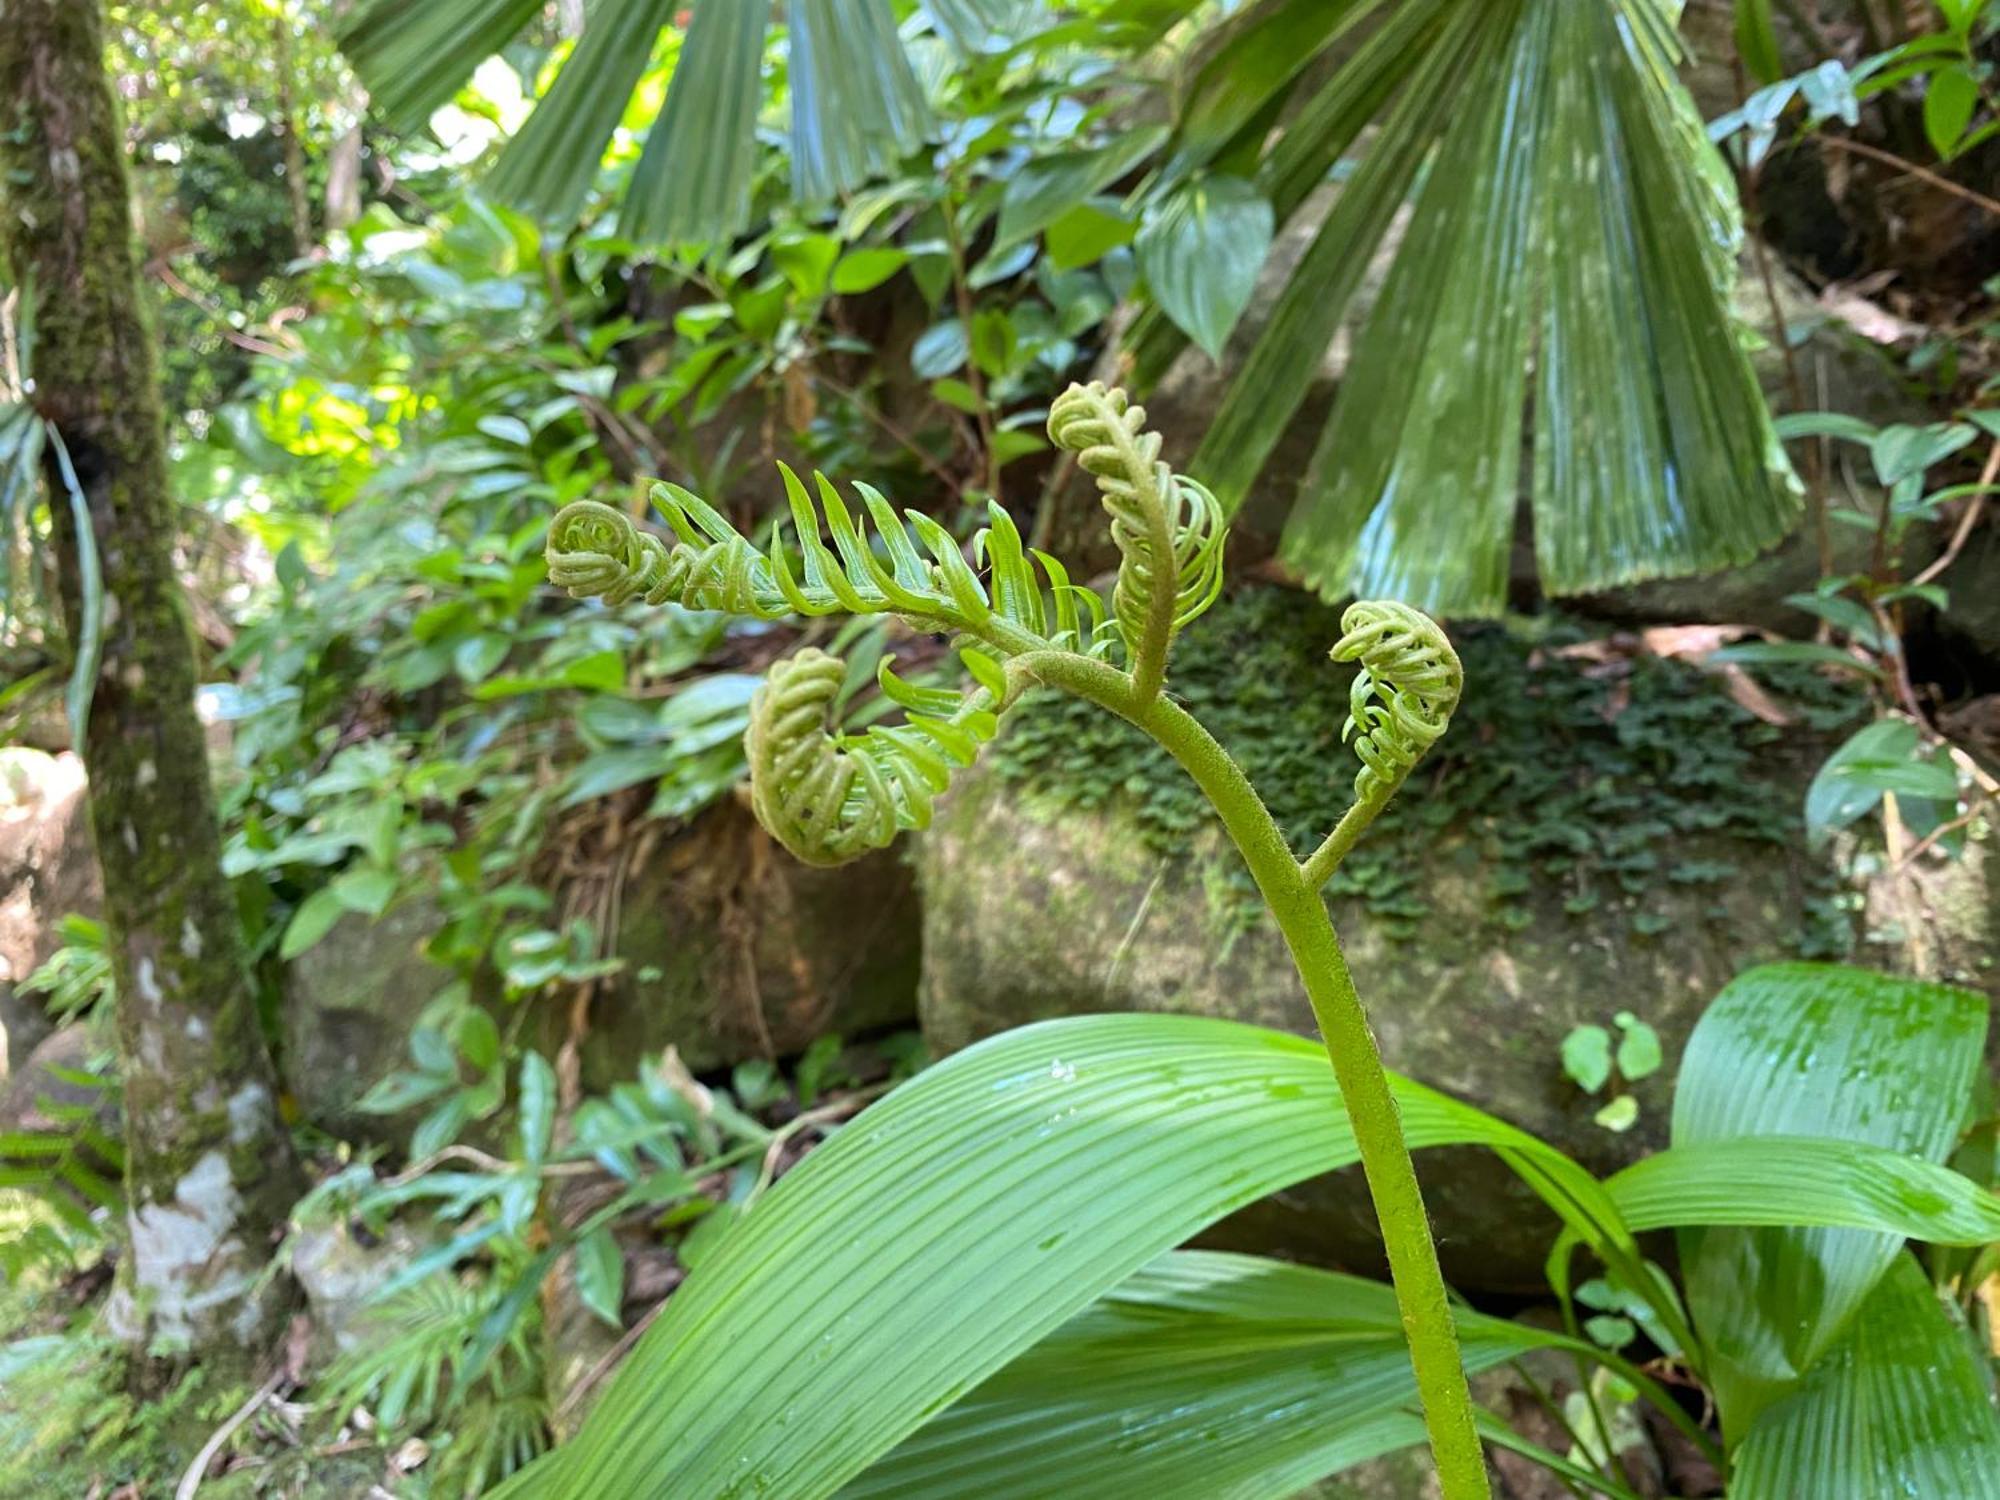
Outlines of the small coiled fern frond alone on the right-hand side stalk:
M 1438 622 L 1408 604 L 1350 604 L 1340 630 L 1334 660 L 1362 664 L 1342 738 L 1360 736 L 1354 796 L 1370 802 L 1394 792 L 1444 734 L 1466 678 Z

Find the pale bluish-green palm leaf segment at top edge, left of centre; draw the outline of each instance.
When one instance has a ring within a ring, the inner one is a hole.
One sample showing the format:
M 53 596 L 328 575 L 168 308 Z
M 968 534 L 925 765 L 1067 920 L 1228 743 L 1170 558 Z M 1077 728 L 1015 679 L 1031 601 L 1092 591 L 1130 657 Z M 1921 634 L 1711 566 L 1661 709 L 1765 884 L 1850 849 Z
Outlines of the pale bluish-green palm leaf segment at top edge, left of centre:
M 916 150 L 924 90 L 882 0 L 792 0 L 792 196 L 858 188 Z

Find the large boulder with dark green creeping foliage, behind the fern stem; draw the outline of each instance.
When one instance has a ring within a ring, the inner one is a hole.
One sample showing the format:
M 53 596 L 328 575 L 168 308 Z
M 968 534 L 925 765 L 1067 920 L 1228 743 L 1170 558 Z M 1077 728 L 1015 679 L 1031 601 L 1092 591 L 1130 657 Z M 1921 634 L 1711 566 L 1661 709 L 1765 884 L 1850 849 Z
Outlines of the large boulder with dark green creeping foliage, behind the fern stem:
M 1356 768 L 1340 740 L 1346 676 L 1326 662 L 1334 634 L 1332 612 L 1252 590 L 1190 632 L 1172 678 L 1296 848 L 1332 826 Z M 1724 982 L 1762 960 L 1854 950 L 1856 898 L 1804 848 L 1800 808 L 1858 704 L 1798 676 L 1798 698 L 1780 696 L 1798 722 L 1778 728 L 1694 666 L 1574 628 L 1540 636 L 1462 632 L 1466 702 L 1336 878 L 1332 910 L 1392 1068 L 1604 1172 L 1664 1142 L 1674 1060 Z M 1018 710 L 918 850 L 920 1002 L 940 1050 L 1102 1010 L 1314 1030 L 1192 784 L 1088 706 Z M 1964 906 L 1964 920 L 1992 920 L 1990 892 Z M 1958 944 L 1960 962 L 1974 966 L 1976 948 Z M 1900 952 L 1890 942 L 1870 962 Z M 1604 1098 L 1560 1066 L 1574 1026 L 1618 1012 L 1656 1028 L 1668 1058 L 1632 1090 L 1626 1134 L 1596 1124 Z M 1554 1222 L 1508 1172 L 1476 1150 L 1428 1152 L 1418 1168 L 1448 1274 L 1540 1284 Z M 1378 1254 L 1352 1172 L 1266 1200 L 1220 1242 L 1356 1268 Z

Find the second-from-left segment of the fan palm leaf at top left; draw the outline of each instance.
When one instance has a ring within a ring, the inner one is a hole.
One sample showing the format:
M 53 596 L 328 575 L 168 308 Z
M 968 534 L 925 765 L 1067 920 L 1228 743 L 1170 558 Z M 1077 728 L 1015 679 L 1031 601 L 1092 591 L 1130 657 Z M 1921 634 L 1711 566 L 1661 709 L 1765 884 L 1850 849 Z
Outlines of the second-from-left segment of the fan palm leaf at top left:
M 588 16 L 576 52 L 488 178 L 496 196 L 556 228 L 576 222 L 674 0 L 598 0 Z

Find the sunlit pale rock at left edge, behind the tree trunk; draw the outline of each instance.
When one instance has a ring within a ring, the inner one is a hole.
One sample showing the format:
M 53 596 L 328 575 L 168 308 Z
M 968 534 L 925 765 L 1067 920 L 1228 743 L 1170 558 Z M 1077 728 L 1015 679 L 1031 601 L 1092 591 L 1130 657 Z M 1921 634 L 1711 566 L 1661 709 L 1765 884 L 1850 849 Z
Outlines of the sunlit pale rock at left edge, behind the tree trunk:
M 0 750 L 0 1078 L 54 1030 L 20 984 L 62 946 L 62 918 L 94 916 L 102 900 L 84 764 L 70 752 Z

